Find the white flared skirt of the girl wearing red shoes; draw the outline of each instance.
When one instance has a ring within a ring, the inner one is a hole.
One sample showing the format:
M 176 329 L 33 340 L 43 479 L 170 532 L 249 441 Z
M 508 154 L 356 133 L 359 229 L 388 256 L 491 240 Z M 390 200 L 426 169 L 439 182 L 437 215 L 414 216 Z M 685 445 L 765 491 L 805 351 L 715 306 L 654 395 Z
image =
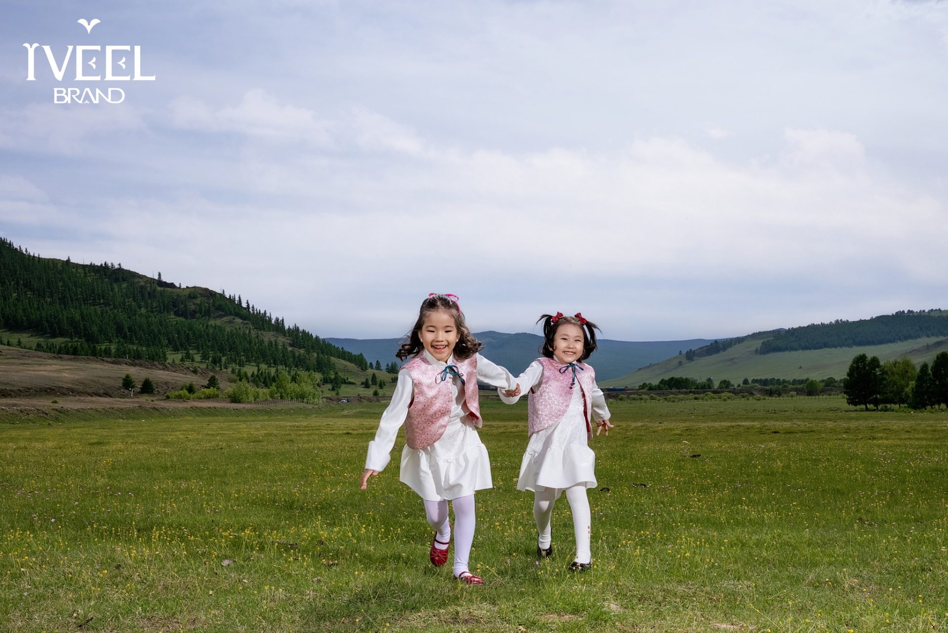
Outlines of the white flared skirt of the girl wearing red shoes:
M 477 429 L 460 418 L 448 422 L 445 434 L 426 448 L 406 444 L 398 479 L 428 501 L 466 497 L 494 485 L 487 447 Z

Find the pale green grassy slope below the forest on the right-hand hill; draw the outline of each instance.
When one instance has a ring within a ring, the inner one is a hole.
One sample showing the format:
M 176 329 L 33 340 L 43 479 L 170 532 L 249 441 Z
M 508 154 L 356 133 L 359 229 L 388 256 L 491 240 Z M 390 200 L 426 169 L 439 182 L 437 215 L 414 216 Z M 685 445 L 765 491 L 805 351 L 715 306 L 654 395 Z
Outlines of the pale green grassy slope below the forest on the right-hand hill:
M 720 381 L 727 378 L 739 385 L 744 378 L 815 378 L 832 376 L 837 380 L 846 375 L 852 357 L 858 353 L 876 355 L 884 362 L 908 356 L 916 364 L 929 363 L 935 355 L 948 349 L 944 337 L 917 338 L 901 343 L 888 343 L 859 348 L 832 348 L 802 352 L 758 354 L 754 351 L 760 339 L 752 338 L 729 350 L 713 356 L 704 356 L 688 362 L 684 355 L 674 356 L 625 376 L 600 383 L 603 387 L 638 387 L 642 383 L 658 383 L 669 376 L 687 376 L 704 380 L 708 376 Z M 682 361 L 682 365 L 679 365 Z M 595 360 L 593 359 L 593 366 Z

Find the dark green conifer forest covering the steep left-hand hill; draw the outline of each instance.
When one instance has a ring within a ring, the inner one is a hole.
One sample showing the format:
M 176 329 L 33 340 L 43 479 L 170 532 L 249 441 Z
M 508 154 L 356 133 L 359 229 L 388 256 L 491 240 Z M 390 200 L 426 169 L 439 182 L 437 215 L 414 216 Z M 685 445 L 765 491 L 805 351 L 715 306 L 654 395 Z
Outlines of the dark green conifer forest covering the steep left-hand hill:
M 238 295 L 180 288 L 110 262 L 78 264 L 30 254 L 0 238 L 0 328 L 53 338 L 48 353 L 166 361 L 194 353 L 210 367 L 266 365 L 337 375 L 334 358 L 368 367 Z M 5 341 L 6 342 L 6 341 Z

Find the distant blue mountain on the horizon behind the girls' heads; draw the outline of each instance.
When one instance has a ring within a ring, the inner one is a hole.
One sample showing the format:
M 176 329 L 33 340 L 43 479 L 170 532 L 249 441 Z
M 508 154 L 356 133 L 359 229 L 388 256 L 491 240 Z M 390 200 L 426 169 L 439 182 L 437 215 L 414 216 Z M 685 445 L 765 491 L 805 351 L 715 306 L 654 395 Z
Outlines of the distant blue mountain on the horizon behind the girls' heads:
M 476 332 L 483 343 L 483 355 L 514 374 L 527 368 L 539 355 L 542 337 L 527 333 Z M 385 367 L 395 359 L 401 338 L 324 338 L 351 353 L 361 353 L 370 363 L 378 360 Z M 599 349 L 590 358 L 590 364 L 599 380 L 609 380 L 628 374 L 651 363 L 657 363 L 684 350 L 700 348 L 713 341 L 692 338 L 681 341 L 617 341 L 599 339 Z

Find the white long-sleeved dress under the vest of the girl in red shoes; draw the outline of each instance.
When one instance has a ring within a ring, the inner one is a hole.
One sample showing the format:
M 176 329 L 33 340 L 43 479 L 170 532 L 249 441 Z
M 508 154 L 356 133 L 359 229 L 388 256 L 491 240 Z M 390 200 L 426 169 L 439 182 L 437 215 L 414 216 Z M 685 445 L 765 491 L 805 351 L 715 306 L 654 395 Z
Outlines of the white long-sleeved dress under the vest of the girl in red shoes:
M 434 367 L 445 367 L 454 362 L 453 356 L 445 363 L 436 360 L 428 351 L 422 353 Z M 481 354 L 477 356 L 476 379 L 502 389 L 517 389 L 517 381 L 509 371 Z M 398 479 L 428 501 L 466 497 L 473 495 L 476 490 L 493 486 L 487 448 L 481 442 L 477 428 L 462 422 L 469 411 L 465 404 L 464 389 L 458 389 L 460 384 L 457 376 L 452 377 L 453 398 L 445 434 L 425 448 L 411 448 L 406 444 L 402 449 Z M 375 439 L 369 443 L 366 468 L 381 471 L 388 465 L 398 429 L 405 424 L 408 416 L 413 390 L 409 372 L 399 371 L 392 402 L 382 413 Z

